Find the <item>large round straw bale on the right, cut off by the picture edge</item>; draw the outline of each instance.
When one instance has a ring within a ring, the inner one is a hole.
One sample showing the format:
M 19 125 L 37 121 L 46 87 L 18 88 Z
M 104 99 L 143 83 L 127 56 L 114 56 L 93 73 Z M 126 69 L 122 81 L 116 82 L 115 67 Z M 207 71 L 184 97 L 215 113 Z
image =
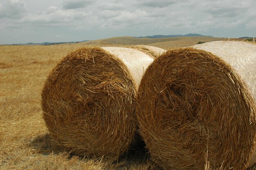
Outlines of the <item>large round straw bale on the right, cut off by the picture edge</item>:
M 247 42 L 208 42 L 156 58 L 137 96 L 152 159 L 175 170 L 255 163 L 255 65 L 256 45 Z

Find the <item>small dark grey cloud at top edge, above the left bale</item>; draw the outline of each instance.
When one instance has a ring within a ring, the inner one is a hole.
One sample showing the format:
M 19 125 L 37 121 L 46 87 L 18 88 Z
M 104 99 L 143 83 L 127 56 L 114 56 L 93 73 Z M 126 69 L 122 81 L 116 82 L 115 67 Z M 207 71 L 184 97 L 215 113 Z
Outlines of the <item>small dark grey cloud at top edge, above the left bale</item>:
M 84 8 L 94 2 L 95 2 L 95 0 L 64 0 L 63 8 L 64 9 Z

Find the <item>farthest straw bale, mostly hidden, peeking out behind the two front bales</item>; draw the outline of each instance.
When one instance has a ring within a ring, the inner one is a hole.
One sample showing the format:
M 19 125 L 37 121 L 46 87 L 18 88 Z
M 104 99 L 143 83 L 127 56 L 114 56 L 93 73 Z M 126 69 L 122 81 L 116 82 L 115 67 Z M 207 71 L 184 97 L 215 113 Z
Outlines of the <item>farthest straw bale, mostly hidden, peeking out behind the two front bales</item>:
M 149 45 L 136 45 L 136 46 L 133 46 L 131 48 L 132 49 L 137 49 L 139 51 L 143 51 L 146 54 L 152 56 L 153 58 L 156 58 L 157 56 L 166 52 L 165 49 L 154 47 L 154 46 L 149 46 Z

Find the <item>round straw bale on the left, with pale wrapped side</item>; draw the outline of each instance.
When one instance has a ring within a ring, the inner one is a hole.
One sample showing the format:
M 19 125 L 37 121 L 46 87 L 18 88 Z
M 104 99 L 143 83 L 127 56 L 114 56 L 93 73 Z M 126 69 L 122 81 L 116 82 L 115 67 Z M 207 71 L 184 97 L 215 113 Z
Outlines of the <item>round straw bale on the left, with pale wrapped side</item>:
M 43 118 L 52 138 L 72 153 L 116 160 L 133 140 L 135 96 L 153 58 L 122 47 L 81 48 L 49 74 Z

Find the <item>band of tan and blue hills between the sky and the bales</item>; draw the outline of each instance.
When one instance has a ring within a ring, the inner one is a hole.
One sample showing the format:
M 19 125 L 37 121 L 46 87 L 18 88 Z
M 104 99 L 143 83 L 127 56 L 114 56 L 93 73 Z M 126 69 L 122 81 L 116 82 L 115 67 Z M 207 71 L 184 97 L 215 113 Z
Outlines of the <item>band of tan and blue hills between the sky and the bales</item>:
M 230 38 L 230 40 L 250 40 L 249 37 Z M 112 37 L 99 40 L 83 40 L 83 41 L 70 41 L 70 42 L 43 42 L 26 44 L 12 44 L 12 45 L 58 45 L 58 44 L 78 44 L 79 45 L 97 45 L 97 46 L 125 46 L 125 45 L 153 45 L 164 49 L 173 47 L 186 47 L 195 45 L 199 41 L 210 42 L 216 40 L 228 40 L 228 38 L 216 38 L 212 36 L 203 36 L 201 34 L 186 34 L 186 35 L 154 35 L 145 37 Z M 171 46 L 171 47 L 170 47 Z

